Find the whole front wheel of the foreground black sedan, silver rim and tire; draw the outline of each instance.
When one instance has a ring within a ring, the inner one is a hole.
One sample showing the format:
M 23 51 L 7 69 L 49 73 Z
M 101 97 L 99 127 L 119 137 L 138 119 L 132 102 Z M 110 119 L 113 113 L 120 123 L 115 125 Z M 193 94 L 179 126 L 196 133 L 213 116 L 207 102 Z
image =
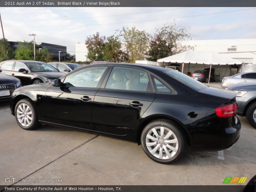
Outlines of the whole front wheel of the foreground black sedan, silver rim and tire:
M 15 118 L 23 129 L 32 130 L 39 126 L 36 109 L 29 99 L 22 99 L 16 104 Z

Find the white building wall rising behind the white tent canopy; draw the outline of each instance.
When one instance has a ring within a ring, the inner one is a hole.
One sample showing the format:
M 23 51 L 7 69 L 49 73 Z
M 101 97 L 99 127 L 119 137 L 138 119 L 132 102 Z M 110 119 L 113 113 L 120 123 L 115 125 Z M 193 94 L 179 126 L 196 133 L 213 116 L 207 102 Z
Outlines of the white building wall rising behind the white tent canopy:
M 256 64 L 256 39 L 193 40 L 183 44 L 194 46 L 194 51 L 215 51 L 244 63 Z M 228 52 L 228 48 L 236 48 L 236 52 Z

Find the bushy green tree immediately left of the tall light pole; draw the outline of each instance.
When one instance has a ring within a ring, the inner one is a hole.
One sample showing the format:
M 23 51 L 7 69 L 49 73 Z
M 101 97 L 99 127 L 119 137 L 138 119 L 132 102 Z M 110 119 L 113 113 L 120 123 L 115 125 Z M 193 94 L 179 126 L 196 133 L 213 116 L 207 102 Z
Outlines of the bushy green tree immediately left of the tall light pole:
M 19 48 L 15 50 L 15 59 L 17 60 L 34 60 L 33 41 L 19 42 Z

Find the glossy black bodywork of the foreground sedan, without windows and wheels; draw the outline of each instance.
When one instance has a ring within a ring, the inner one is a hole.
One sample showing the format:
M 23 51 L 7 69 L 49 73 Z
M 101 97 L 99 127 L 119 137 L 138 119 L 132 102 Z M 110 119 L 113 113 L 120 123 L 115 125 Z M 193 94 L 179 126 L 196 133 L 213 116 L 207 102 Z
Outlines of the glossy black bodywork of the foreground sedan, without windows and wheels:
M 152 92 L 104 89 L 110 71 L 117 65 L 145 70 L 169 84 L 177 93 L 156 93 L 152 82 Z M 140 142 L 140 133 L 150 121 L 168 118 L 186 132 L 188 143 L 194 150 L 229 148 L 238 140 L 239 119 L 236 116 L 221 118 L 215 114 L 216 107 L 235 102 L 235 93 L 210 87 L 195 91 L 163 73 L 172 69 L 156 66 L 108 63 L 78 70 L 98 66 L 108 66 L 108 69 L 97 88 L 53 87 L 45 83 L 17 89 L 12 94 L 12 115 L 18 100 L 28 97 L 34 101 L 39 121 L 44 124 L 83 128 Z M 83 96 L 91 100 L 84 102 Z M 140 102 L 143 106 L 131 106 L 131 101 Z M 87 109 L 81 106 L 87 106 Z

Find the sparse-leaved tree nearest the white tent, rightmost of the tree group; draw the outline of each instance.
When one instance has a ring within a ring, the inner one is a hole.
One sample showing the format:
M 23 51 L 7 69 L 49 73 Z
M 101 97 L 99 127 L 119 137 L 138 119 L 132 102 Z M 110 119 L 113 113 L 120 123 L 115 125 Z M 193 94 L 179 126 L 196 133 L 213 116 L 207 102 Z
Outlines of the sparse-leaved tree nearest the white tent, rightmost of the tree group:
M 177 53 L 194 50 L 192 46 L 182 44 L 182 41 L 191 39 L 186 28 L 179 28 L 176 23 L 172 25 L 164 25 L 157 29 L 149 44 L 148 60 L 157 61 L 164 57 L 175 55 Z

